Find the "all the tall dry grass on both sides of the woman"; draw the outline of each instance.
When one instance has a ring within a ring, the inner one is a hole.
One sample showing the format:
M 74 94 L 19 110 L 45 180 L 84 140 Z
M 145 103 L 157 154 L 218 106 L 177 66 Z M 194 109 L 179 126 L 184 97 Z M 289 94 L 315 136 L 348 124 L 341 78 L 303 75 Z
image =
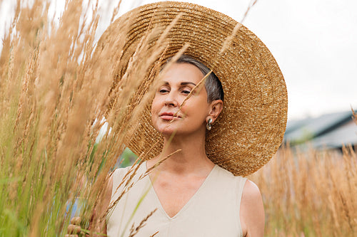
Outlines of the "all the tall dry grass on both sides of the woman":
M 113 80 L 126 28 L 96 51 L 99 11 L 85 2 L 68 1 L 53 19 L 46 1 L 31 7 L 19 1 L 6 31 L 0 56 L 0 236 L 63 236 L 78 198 L 81 225 L 88 228 L 107 174 L 152 97 L 151 85 L 140 78 L 164 48 L 158 44 L 148 56 L 148 34 L 123 79 Z M 343 153 L 280 149 L 250 177 L 263 195 L 266 236 L 353 236 L 356 163 L 351 147 Z

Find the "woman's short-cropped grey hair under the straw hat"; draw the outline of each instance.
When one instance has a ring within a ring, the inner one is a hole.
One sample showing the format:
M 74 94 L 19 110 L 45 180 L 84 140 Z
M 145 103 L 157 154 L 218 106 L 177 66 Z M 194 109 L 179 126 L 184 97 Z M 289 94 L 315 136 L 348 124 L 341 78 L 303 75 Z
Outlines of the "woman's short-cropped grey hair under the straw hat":
M 184 54 L 180 58 L 178 58 L 178 60 L 176 60 L 176 63 L 192 64 L 196 66 L 196 68 L 201 70 L 203 76 L 207 75 L 211 71 L 211 69 L 207 68 L 206 65 L 204 65 L 203 63 Z M 211 74 L 208 75 L 208 77 L 206 78 L 205 88 L 207 91 L 207 102 L 212 102 L 213 100 L 223 101 L 224 93 L 223 93 L 221 81 L 217 78 L 217 76 L 213 72 L 211 72 Z

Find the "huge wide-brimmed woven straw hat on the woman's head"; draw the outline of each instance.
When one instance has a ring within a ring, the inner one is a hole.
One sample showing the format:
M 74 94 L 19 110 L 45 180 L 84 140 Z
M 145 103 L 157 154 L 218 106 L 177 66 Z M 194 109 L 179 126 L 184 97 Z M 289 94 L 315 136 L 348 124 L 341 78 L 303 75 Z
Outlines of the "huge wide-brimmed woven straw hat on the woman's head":
M 124 48 L 135 48 L 141 38 L 156 28 L 157 38 L 182 14 L 169 31 L 164 58 L 174 56 L 186 43 L 184 52 L 213 70 L 223 85 L 223 111 L 206 135 L 206 154 L 215 164 L 234 175 L 256 172 L 276 153 L 286 129 L 286 84 L 276 60 L 260 39 L 242 26 L 232 36 L 238 22 L 203 6 L 164 1 L 129 11 L 109 26 L 99 41 L 119 32 L 130 16 L 129 36 Z M 239 26 L 239 25 L 238 25 Z M 155 42 L 154 42 L 155 43 Z M 227 48 L 223 53 L 223 44 Z M 129 56 L 134 52 L 124 52 Z M 148 52 L 150 53 L 150 52 Z M 124 65 L 129 56 L 123 56 Z M 151 124 L 150 106 L 139 121 L 136 137 L 127 142 L 136 154 L 155 144 L 161 135 Z M 141 138 L 141 139 L 139 139 Z M 162 142 L 149 152 L 158 155 Z

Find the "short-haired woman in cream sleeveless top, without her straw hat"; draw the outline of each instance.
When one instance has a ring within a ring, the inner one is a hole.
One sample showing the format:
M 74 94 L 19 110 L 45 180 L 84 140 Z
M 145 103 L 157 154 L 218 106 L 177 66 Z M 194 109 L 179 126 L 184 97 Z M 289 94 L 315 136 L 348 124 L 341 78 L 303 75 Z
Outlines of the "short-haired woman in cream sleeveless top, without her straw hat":
M 160 156 L 144 163 L 139 174 L 153 167 L 162 157 L 178 149 L 180 152 L 139 181 L 117 204 L 109 217 L 109 236 L 121 233 L 149 184 L 153 189 L 146 194 L 139 211 L 136 211 L 137 217 L 131 223 L 139 225 L 154 208 L 158 210 L 138 236 L 151 236 L 156 231 L 159 231 L 157 236 L 263 236 L 263 204 L 257 186 L 216 166 L 205 152 L 206 130 L 214 126 L 223 108 L 223 93 L 219 93 L 221 83 L 211 73 L 213 79 L 206 80 L 206 87 L 196 89 L 180 107 L 206 75 L 195 64 L 205 67 L 188 56 L 182 56 L 162 77 L 151 105 L 151 118 L 155 129 L 164 137 L 166 149 Z M 208 69 L 206 71 L 209 72 Z M 214 83 L 218 84 L 218 93 L 214 89 L 209 90 L 215 88 Z M 214 94 L 218 95 L 214 97 Z M 171 139 L 173 133 L 175 135 Z M 113 192 L 125 173 L 126 169 L 114 172 Z M 122 216 L 123 209 L 131 211 Z M 119 220 L 121 225 L 118 225 Z M 124 236 L 127 235 L 126 231 Z

